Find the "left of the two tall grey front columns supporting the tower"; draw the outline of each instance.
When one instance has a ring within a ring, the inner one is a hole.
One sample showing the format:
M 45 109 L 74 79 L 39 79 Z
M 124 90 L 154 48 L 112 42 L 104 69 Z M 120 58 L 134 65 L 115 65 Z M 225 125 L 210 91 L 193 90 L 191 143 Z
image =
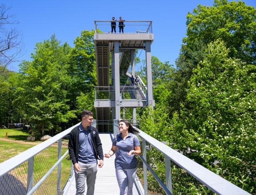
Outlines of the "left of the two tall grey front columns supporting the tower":
M 115 113 L 116 113 L 116 119 L 120 119 L 120 75 L 119 75 L 119 41 L 114 42 L 114 67 L 115 67 L 115 74 L 114 74 L 114 80 L 115 80 Z

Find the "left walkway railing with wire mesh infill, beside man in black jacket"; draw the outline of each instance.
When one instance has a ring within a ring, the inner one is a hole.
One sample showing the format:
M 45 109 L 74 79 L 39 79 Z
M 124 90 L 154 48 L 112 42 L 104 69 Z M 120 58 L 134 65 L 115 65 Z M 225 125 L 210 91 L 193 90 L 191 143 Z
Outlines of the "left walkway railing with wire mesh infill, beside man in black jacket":
M 68 134 L 79 124 L 1 163 L 0 194 L 65 195 L 74 177 Z

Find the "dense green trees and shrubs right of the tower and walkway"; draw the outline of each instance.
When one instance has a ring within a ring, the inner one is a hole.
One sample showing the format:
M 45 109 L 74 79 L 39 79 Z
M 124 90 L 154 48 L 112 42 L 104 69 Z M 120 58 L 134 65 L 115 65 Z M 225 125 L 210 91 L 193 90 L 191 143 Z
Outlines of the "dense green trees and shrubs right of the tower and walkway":
M 215 0 L 187 19 L 177 69 L 154 89 L 156 107 L 144 111 L 141 129 L 256 194 L 256 10 L 241 1 Z M 164 157 L 151 148 L 147 159 L 164 181 Z M 186 187 L 174 194 L 206 193 L 177 170 L 174 164 L 172 177 L 179 182 L 173 187 Z M 149 183 L 162 193 L 155 179 Z

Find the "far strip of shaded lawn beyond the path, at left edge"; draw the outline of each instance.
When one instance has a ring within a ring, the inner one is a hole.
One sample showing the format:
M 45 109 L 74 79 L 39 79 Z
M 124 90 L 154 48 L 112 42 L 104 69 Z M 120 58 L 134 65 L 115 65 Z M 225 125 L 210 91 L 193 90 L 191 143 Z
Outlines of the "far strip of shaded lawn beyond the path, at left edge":
M 5 138 L 6 132 L 8 132 L 8 139 L 26 141 L 27 137 L 30 136 L 28 131 L 19 129 L 0 129 L 0 137 Z

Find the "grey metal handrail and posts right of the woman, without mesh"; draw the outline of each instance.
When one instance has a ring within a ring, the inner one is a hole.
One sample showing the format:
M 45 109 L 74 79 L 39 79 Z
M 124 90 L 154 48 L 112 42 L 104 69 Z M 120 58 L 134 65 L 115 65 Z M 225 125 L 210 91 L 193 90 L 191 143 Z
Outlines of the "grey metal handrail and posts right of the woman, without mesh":
M 117 132 L 116 125 L 118 120 L 113 121 L 113 132 Z M 136 127 L 134 127 L 136 128 Z M 138 128 L 136 128 L 138 129 Z M 170 161 L 173 161 L 187 173 L 189 173 L 196 180 L 204 184 L 208 189 L 216 194 L 221 195 L 249 195 L 250 193 L 244 191 L 240 187 L 230 183 L 226 179 L 220 177 L 216 173 L 206 169 L 202 165 L 199 165 L 195 161 L 189 159 L 188 157 L 182 155 L 178 151 L 170 148 L 164 143 L 154 139 L 150 135 L 144 133 L 140 129 L 139 136 L 142 139 L 143 155 L 140 158 L 143 159 L 143 172 L 144 172 L 144 193 L 147 194 L 147 166 L 144 163 L 146 161 L 146 142 L 158 149 L 161 153 L 165 155 L 165 168 L 166 168 L 166 187 L 172 193 L 172 175 Z M 153 174 L 154 175 L 154 174 Z M 156 178 L 156 177 L 155 177 Z M 167 192 L 166 192 L 167 193 Z

